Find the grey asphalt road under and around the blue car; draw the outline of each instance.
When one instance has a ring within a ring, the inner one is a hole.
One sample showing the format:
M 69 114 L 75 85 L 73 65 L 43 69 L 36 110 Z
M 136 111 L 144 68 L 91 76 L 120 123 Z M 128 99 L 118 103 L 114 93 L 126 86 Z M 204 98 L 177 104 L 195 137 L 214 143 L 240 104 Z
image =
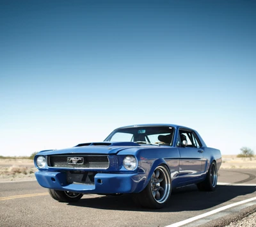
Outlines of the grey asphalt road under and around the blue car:
M 231 185 L 218 185 L 214 192 L 200 192 L 195 185 L 175 189 L 170 202 L 161 210 L 136 207 L 129 195 L 88 194 L 78 203 L 60 203 L 36 181 L 1 183 L 0 226 L 168 226 L 256 197 L 256 169 L 221 169 L 218 182 Z M 247 207 L 228 208 L 185 226 L 214 226 L 250 210 L 256 200 L 245 205 Z

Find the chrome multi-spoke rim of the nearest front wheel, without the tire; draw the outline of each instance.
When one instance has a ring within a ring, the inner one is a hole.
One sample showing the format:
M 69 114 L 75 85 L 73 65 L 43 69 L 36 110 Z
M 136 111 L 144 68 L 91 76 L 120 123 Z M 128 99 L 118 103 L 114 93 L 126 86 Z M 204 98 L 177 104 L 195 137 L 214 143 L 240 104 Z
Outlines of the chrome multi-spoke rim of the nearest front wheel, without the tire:
M 164 203 L 170 196 L 171 178 L 164 166 L 157 166 L 151 177 L 151 192 L 157 203 Z

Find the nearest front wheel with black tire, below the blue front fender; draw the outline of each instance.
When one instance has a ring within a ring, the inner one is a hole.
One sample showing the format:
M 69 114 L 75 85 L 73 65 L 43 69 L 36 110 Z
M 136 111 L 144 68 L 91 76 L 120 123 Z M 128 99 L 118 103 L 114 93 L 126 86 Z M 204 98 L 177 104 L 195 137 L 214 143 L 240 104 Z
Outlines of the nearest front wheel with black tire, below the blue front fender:
M 141 207 L 159 209 L 166 205 L 171 192 L 169 169 L 166 166 L 157 166 L 145 189 L 140 193 L 132 194 L 132 198 Z

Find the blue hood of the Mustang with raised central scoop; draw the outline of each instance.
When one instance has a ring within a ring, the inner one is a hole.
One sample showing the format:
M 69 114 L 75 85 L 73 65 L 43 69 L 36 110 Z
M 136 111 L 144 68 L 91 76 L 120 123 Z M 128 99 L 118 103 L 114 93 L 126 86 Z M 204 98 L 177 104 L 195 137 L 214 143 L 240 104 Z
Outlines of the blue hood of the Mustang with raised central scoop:
M 77 146 L 61 150 L 47 150 L 42 151 L 42 155 L 63 155 L 70 153 L 102 153 L 102 154 L 116 154 L 122 150 L 140 147 L 137 143 L 132 142 L 100 142 L 100 143 L 81 143 Z

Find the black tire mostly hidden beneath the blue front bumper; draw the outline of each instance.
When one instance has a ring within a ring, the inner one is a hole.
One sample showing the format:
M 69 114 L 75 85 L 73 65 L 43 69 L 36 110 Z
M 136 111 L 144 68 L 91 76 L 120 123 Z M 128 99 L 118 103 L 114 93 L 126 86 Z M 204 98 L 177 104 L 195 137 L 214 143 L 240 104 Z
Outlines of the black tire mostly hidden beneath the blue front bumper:
M 49 189 L 49 194 L 54 200 L 58 200 L 63 203 L 77 202 L 83 196 L 81 193 L 70 192 L 70 191 L 57 191 Z

